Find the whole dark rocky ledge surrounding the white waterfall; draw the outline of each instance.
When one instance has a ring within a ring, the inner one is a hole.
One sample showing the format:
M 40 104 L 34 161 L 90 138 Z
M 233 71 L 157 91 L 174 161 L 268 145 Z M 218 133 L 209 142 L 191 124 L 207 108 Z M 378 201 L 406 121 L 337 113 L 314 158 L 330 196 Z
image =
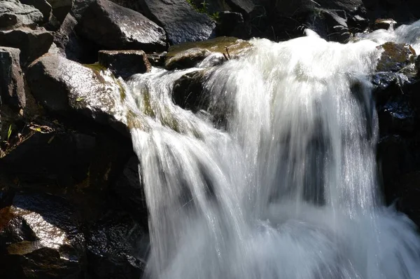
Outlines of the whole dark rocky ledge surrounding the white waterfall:
M 417 1 L 222 2 L 0 0 L 1 278 L 140 278 L 148 212 L 120 105 L 132 74 L 202 67 L 173 88 L 176 104 L 197 111 L 208 107 L 198 102 L 204 67 L 246 55 L 252 36 L 310 27 L 344 42 L 398 24 L 377 18 L 420 18 Z M 381 184 L 420 224 L 420 59 L 405 44 L 380 48 Z

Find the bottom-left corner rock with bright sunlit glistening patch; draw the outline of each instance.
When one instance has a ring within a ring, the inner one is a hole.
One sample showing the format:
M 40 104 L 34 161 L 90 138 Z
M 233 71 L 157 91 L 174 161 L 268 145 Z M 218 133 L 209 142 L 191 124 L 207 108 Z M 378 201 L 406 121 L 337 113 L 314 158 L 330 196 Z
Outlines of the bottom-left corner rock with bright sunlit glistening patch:
M 80 278 L 85 240 L 62 198 L 16 193 L 0 210 L 1 278 Z

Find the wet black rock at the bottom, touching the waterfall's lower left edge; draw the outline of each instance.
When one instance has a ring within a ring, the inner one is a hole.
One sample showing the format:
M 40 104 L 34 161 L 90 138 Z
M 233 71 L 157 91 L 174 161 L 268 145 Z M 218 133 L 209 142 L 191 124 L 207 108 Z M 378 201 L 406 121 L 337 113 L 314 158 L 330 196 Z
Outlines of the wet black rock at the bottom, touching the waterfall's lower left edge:
M 90 228 L 87 259 L 93 278 L 141 278 L 148 235 L 129 215 L 109 212 Z

